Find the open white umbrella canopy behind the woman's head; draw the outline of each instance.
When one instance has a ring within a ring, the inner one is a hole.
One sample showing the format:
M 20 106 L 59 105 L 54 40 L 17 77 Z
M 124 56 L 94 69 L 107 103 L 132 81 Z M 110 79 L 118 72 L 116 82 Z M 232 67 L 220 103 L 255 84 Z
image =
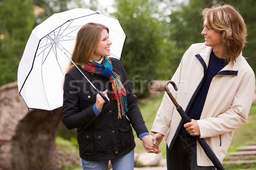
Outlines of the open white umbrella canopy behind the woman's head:
M 121 59 L 125 32 L 119 19 L 83 8 L 53 14 L 36 26 L 18 68 L 18 90 L 28 108 L 53 110 L 63 104 L 62 83 L 76 42 L 86 23 L 109 28 L 111 56 Z

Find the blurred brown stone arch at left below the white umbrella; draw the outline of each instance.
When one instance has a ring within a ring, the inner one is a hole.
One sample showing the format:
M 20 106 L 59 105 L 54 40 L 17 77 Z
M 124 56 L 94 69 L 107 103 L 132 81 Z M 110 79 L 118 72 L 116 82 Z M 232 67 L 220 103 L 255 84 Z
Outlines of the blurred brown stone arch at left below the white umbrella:
M 0 88 L 0 170 L 53 170 L 62 109 L 26 107 L 17 82 Z

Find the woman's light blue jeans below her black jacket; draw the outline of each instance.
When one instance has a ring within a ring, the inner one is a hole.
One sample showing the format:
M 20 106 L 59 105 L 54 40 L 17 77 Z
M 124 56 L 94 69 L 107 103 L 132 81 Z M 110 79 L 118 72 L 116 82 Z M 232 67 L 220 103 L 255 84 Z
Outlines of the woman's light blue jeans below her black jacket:
M 113 170 L 133 170 L 134 150 L 120 158 L 110 161 Z M 108 170 L 108 161 L 86 161 L 81 159 L 81 167 L 82 170 Z

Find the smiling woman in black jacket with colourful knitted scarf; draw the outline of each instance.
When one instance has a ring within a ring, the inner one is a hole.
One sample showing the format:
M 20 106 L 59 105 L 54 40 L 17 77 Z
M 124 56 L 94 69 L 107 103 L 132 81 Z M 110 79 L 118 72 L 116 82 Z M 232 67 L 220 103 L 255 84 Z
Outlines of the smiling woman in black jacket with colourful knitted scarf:
M 62 121 L 68 129 L 77 128 L 83 170 L 108 170 L 109 160 L 113 170 L 133 170 L 135 142 L 131 125 L 147 152 L 160 152 L 152 144 L 125 69 L 118 59 L 107 57 L 112 44 L 108 32 L 98 23 L 82 26 L 72 60 L 103 91 L 109 104 L 72 63 L 64 80 Z

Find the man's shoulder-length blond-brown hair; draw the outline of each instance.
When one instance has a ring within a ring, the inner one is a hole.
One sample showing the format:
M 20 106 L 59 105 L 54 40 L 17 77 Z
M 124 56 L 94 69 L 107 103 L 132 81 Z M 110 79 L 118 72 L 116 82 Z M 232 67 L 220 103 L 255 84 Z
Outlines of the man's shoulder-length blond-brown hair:
M 206 8 L 202 15 L 214 31 L 221 32 L 221 40 L 227 48 L 225 63 L 233 65 L 246 43 L 247 28 L 244 19 L 230 5 Z

